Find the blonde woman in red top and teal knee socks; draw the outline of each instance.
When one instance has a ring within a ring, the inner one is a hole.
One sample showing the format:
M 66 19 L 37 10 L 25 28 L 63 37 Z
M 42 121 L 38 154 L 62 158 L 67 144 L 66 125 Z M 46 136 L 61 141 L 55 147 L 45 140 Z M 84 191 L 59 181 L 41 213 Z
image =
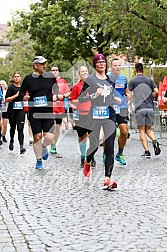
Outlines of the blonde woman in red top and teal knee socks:
M 88 77 L 88 69 L 86 66 L 81 66 L 78 69 L 78 82 L 74 84 L 72 87 L 72 92 L 70 95 L 70 105 L 73 109 L 73 116 L 74 116 L 74 121 L 75 121 L 75 126 L 73 127 L 74 130 L 77 131 L 78 134 L 78 142 L 79 142 L 79 148 L 80 148 L 80 153 L 81 153 L 81 164 L 80 167 L 84 167 L 84 162 L 85 162 L 85 157 L 86 157 L 86 140 L 88 135 L 91 133 L 91 130 L 88 128 L 84 128 L 84 123 L 87 121 L 87 115 L 89 114 L 89 110 L 91 107 L 91 102 L 85 102 L 82 104 L 77 104 L 75 107 L 73 105 L 73 100 L 75 103 L 75 100 L 80 96 L 81 90 L 84 85 L 85 79 Z M 86 127 L 86 125 L 85 125 Z M 92 158 L 91 161 L 91 166 L 95 167 L 96 166 L 96 161 L 94 157 Z

